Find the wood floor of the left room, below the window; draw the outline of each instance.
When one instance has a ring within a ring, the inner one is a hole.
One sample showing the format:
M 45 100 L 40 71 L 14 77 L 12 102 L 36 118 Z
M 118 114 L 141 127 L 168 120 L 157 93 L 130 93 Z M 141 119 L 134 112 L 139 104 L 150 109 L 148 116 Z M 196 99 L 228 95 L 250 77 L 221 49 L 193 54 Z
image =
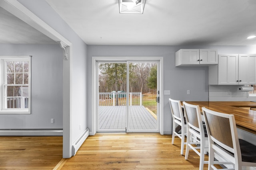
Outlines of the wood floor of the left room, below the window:
M 62 137 L 0 137 L 0 169 L 52 170 L 62 143 Z

